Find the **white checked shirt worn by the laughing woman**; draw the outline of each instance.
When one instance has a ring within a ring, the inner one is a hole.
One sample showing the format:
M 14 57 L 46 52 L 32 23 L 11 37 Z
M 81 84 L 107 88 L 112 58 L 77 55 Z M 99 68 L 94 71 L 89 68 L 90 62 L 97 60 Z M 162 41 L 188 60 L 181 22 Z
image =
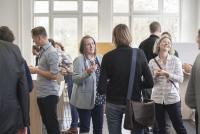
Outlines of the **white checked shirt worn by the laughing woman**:
M 180 59 L 173 55 L 168 55 L 166 63 L 161 62 L 159 56 L 156 57 L 156 60 L 162 69 L 169 73 L 169 78 L 165 76 L 155 77 L 154 70 L 159 69 L 159 67 L 154 59 L 149 61 L 149 67 L 154 79 L 151 99 L 158 104 L 174 104 L 179 102 L 179 83 L 183 82 L 183 70 Z M 169 80 L 173 81 L 176 86 Z

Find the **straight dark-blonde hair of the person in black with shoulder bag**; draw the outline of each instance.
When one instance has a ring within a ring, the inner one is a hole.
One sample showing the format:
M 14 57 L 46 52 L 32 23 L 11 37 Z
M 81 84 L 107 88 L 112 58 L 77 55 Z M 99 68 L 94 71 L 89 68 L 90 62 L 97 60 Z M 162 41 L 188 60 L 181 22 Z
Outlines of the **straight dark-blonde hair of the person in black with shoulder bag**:
M 112 42 L 116 47 L 122 45 L 130 45 L 132 42 L 132 36 L 125 24 L 119 24 L 113 29 Z

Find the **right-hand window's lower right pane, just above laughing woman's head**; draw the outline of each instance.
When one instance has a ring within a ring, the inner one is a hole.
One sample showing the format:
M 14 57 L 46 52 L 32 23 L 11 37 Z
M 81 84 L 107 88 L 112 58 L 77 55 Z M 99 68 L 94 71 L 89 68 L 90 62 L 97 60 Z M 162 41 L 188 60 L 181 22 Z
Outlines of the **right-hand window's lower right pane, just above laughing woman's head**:
M 168 31 L 172 35 L 172 40 L 179 41 L 179 17 L 164 17 L 162 31 Z

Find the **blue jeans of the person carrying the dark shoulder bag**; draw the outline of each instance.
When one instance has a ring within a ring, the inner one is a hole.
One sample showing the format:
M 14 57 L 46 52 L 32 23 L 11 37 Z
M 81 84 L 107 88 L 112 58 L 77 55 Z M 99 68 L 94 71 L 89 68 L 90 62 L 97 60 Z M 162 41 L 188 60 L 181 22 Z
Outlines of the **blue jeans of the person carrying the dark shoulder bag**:
M 109 134 L 122 134 L 122 118 L 125 110 L 126 105 L 106 103 L 106 117 Z M 144 130 L 137 129 L 132 131 L 131 134 L 144 134 Z

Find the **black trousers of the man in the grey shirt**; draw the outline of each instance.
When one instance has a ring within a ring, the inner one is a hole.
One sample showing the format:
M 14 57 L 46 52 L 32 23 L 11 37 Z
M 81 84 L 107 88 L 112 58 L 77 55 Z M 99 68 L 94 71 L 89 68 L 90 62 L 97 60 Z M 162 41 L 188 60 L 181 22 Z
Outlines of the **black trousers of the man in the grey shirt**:
M 50 95 L 44 98 L 37 98 L 38 107 L 48 134 L 60 134 L 57 120 L 57 103 L 59 97 Z

